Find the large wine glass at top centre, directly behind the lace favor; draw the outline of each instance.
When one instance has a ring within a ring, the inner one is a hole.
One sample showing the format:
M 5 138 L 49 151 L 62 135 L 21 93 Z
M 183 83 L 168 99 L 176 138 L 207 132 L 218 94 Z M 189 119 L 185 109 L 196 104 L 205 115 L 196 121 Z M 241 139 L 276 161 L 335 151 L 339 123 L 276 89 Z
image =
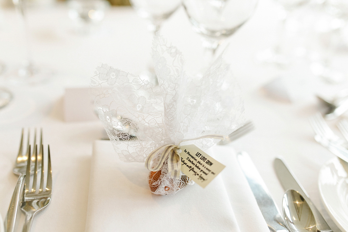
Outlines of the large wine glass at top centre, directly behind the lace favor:
M 203 39 L 205 66 L 216 49 L 254 13 L 258 0 L 184 0 L 183 6 L 193 30 Z M 205 67 L 204 67 L 205 68 Z

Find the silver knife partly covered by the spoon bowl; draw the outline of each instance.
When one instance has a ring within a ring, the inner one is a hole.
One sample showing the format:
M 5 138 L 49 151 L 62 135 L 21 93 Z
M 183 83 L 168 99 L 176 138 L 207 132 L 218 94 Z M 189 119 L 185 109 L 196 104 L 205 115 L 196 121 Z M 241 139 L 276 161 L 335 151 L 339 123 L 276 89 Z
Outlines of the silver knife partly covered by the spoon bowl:
M 276 171 L 280 184 L 282 184 L 283 189 L 285 191 L 288 189 L 298 191 L 307 201 L 310 209 L 313 211 L 315 221 L 317 222 L 318 232 L 332 232 L 330 226 L 327 225 L 323 216 L 320 214 L 313 202 L 309 199 L 308 193 L 303 189 L 300 182 L 296 179 L 295 175 L 290 171 L 290 169 L 285 165 L 282 159 L 276 158 L 274 160 L 274 169 Z

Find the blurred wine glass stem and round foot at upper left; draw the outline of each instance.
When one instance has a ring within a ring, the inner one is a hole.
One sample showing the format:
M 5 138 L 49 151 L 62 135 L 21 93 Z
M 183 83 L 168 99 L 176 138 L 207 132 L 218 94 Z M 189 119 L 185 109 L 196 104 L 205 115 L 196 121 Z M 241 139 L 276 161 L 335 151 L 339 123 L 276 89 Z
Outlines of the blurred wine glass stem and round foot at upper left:
M 20 15 L 23 23 L 23 37 L 25 39 L 26 47 L 26 59 L 16 69 L 15 73 L 11 76 L 12 82 L 36 84 L 48 80 L 54 74 L 54 72 L 45 66 L 38 67 L 34 65 L 31 55 L 31 41 L 29 37 L 29 28 L 27 25 L 26 11 L 27 0 L 13 0 L 14 5 Z

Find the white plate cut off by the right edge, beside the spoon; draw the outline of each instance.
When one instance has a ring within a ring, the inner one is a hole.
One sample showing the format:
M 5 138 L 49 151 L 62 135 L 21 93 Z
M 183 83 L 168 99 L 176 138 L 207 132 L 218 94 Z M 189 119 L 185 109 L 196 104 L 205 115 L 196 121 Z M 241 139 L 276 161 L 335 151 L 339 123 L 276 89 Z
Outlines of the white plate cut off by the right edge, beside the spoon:
M 319 192 L 331 219 L 348 232 L 348 164 L 333 158 L 319 172 Z

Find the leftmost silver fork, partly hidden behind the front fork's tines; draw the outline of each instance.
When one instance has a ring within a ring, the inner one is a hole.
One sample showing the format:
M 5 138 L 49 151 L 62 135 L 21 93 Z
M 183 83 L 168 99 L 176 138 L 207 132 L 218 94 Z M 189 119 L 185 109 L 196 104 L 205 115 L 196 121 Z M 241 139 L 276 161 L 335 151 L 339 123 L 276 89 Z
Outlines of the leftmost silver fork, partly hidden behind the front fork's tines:
M 18 177 L 18 181 L 10 201 L 10 205 L 7 210 L 6 218 L 5 218 L 6 232 L 13 232 L 15 229 L 17 210 L 19 206 L 19 200 L 21 199 L 20 198 L 21 189 L 22 189 L 23 179 L 26 173 L 27 157 L 28 157 L 28 152 L 30 150 L 29 149 L 30 129 L 28 129 L 26 152 L 24 154 L 23 154 L 23 150 L 25 148 L 23 147 L 23 136 L 24 136 L 24 129 L 22 129 L 21 143 L 19 144 L 19 151 L 18 151 L 15 167 L 13 168 L 13 173 L 19 177 Z M 35 143 L 36 143 L 36 129 L 34 132 L 34 144 Z M 42 144 L 42 129 L 40 129 L 40 144 Z M 40 151 L 40 154 L 41 154 L 41 151 Z

